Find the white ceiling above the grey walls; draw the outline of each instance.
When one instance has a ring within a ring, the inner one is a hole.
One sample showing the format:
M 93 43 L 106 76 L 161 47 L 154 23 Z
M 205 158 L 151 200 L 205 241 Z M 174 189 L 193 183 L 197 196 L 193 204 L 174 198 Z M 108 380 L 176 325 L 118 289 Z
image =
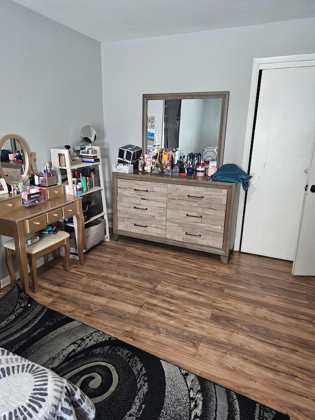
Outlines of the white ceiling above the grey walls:
M 315 0 L 13 0 L 98 41 L 315 17 Z

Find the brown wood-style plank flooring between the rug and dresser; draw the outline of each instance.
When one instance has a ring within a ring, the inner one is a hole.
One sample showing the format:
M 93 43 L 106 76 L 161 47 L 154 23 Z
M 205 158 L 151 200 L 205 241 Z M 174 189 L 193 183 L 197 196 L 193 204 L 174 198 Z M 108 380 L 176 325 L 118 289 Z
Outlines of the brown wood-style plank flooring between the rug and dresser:
M 247 395 L 315 419 L 315 277 L 292 263 L 120 238 L 38 268 L 39 303 Z M 9 287 L 0 292 L 5 293 Z

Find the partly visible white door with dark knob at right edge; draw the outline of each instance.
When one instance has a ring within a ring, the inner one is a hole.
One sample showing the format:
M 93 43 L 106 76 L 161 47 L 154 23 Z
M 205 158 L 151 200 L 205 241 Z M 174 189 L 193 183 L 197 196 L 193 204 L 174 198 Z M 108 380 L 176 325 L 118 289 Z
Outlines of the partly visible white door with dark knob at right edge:
M 310 168 L 292 267 L 292 274 L 296 276 L 315 275 L 315 148 Z

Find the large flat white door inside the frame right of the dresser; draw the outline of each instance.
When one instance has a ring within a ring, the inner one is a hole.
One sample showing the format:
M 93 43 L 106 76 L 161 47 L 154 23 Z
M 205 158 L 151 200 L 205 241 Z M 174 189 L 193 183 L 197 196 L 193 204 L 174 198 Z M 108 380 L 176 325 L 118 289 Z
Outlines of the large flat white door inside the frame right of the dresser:
M 315 66 L 262 70 L 242 252 L 293 260 L 314 116 Z

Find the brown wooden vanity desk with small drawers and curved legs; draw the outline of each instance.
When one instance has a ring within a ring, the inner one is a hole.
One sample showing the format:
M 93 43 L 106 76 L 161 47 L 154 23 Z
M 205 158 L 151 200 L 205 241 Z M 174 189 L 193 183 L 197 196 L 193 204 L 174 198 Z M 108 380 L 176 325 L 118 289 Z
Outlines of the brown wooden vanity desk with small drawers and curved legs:
M 0 235 L 10 236 L 15 240 L 17 250 L 17 265 L 21 285 L 29 292 L 28 259 L 26 255 L 25 236 L 43 229 L 47 225 L 76 216 L 77 246 L 79 263 L 84 264 L 84 218 L 81 197 L 64 195 L 61 187 L 47 189 L 47 199 L 43 202 L 26 207 L 22 205 L 20 195 L 0 195 Z

